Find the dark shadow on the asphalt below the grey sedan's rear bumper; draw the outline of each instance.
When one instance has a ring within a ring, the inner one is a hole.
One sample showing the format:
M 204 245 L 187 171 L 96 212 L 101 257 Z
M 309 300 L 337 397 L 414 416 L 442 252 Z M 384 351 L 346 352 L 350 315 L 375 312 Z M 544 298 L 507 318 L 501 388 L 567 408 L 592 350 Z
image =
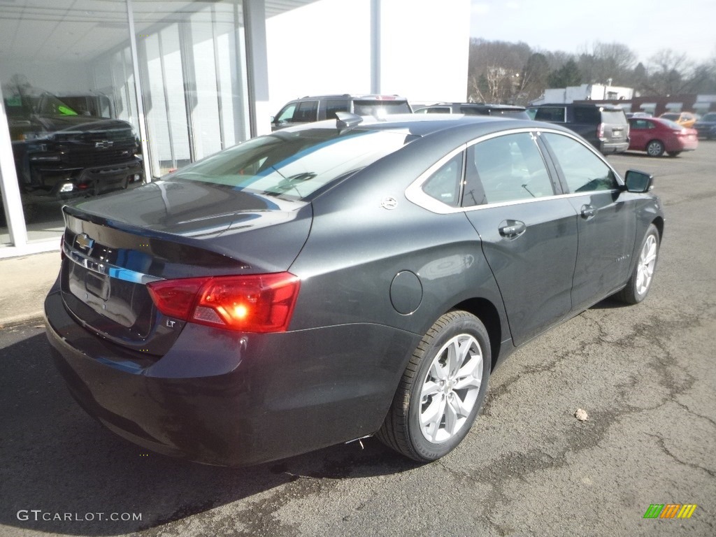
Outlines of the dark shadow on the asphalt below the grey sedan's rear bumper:
M 54 369 L 44 331 L 36 326 L 32 334 L 5 347 L 0 361 L 1 526 L 89 536 L 130 533 L 294 481 L 363 478 L 418 466 L 372 438 L 251 468 L 147 452 L 80 409 Z M 141 520 L 121 520 L 136 513 Z M 120 520 L 110 520 L 113 514 Z

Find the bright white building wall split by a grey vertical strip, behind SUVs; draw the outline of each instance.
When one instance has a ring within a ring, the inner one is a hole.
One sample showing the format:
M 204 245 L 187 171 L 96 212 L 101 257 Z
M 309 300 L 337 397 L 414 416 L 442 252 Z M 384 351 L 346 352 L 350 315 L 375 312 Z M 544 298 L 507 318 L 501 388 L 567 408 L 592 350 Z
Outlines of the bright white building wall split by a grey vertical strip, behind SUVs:
M 273 113 L 304 95 L 371 92 L 371 0 L 319 0 L 266 21 Z M 379 92 L 464 101 L 470 0 L 380 0 Z

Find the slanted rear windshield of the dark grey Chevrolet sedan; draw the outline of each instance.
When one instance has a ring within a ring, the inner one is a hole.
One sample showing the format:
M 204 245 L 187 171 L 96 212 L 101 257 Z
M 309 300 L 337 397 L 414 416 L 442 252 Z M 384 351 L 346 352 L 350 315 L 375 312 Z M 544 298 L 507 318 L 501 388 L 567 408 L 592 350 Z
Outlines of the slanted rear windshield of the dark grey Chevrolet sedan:
M 279 131 L 216 153 L 166 179 L 305 200 L 414 139 L 407 132 L 382 130 Z

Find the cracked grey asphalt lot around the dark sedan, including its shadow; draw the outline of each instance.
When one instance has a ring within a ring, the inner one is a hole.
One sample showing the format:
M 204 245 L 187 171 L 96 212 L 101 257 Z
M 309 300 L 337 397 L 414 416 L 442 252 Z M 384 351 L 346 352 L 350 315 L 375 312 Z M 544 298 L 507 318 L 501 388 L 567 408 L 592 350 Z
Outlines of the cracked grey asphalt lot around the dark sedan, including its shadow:
M 513 354 L 463 444 L 429 465 L 374 439 L 243 469 L 147 453 L 74 403 L 42 326 L 2 330 L 0 535 L 716 535 L 716 141 L 609 160 L 657 177 L 649 297 L 604 301 Z M 653 503 L 698 507 L 644 519 Z

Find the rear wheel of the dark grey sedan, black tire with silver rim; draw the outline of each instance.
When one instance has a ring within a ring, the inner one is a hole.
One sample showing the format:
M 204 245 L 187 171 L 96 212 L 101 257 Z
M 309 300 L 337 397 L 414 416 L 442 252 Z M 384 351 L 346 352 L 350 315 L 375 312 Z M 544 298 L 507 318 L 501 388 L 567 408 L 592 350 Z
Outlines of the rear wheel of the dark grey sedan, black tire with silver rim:
M 451 349 L 453 367 L 442 369 Z M 490 338 L 480 319 L 467 311 L 442 315 L 413 352 L 377 438 L 421 463 L 447 455 L 480 412 L 491 364 Z M 425 425 L 430 415 L 435 418 Z

